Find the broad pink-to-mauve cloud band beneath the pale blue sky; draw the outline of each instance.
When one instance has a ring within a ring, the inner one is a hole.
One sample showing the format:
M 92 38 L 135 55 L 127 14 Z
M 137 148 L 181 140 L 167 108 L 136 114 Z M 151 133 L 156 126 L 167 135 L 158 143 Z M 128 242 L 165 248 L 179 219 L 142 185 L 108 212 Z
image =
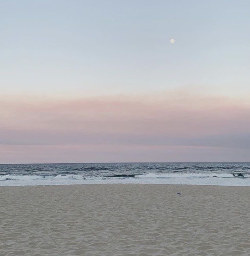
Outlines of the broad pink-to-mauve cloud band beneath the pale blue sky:
M 71 147 L 73 157 L 72 152 L 78 155 L 89 145 L 104 145 L 101 152 L 107 155 L 113 147 L 120 147 L 119 152 L 126 148 L 126 154 L 143 147 L 145 155 L 156 152 L 152 147 L 161 152 L 171 146 L 180 152 L 181 147 L 197 146 L 250 148 L 247 101 L 186 92 L 71 100 L 9 97 L 0 100 L 0 118 L 2 148 L 47 147 L 52 155 Z

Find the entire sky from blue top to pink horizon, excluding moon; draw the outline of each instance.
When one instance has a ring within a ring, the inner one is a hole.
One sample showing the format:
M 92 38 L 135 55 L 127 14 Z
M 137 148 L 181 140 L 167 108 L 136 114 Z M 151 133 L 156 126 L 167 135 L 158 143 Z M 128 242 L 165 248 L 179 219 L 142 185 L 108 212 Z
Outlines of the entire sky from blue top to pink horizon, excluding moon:
M 0 0 L 0 163 L 250 161 L 249 8 Z

